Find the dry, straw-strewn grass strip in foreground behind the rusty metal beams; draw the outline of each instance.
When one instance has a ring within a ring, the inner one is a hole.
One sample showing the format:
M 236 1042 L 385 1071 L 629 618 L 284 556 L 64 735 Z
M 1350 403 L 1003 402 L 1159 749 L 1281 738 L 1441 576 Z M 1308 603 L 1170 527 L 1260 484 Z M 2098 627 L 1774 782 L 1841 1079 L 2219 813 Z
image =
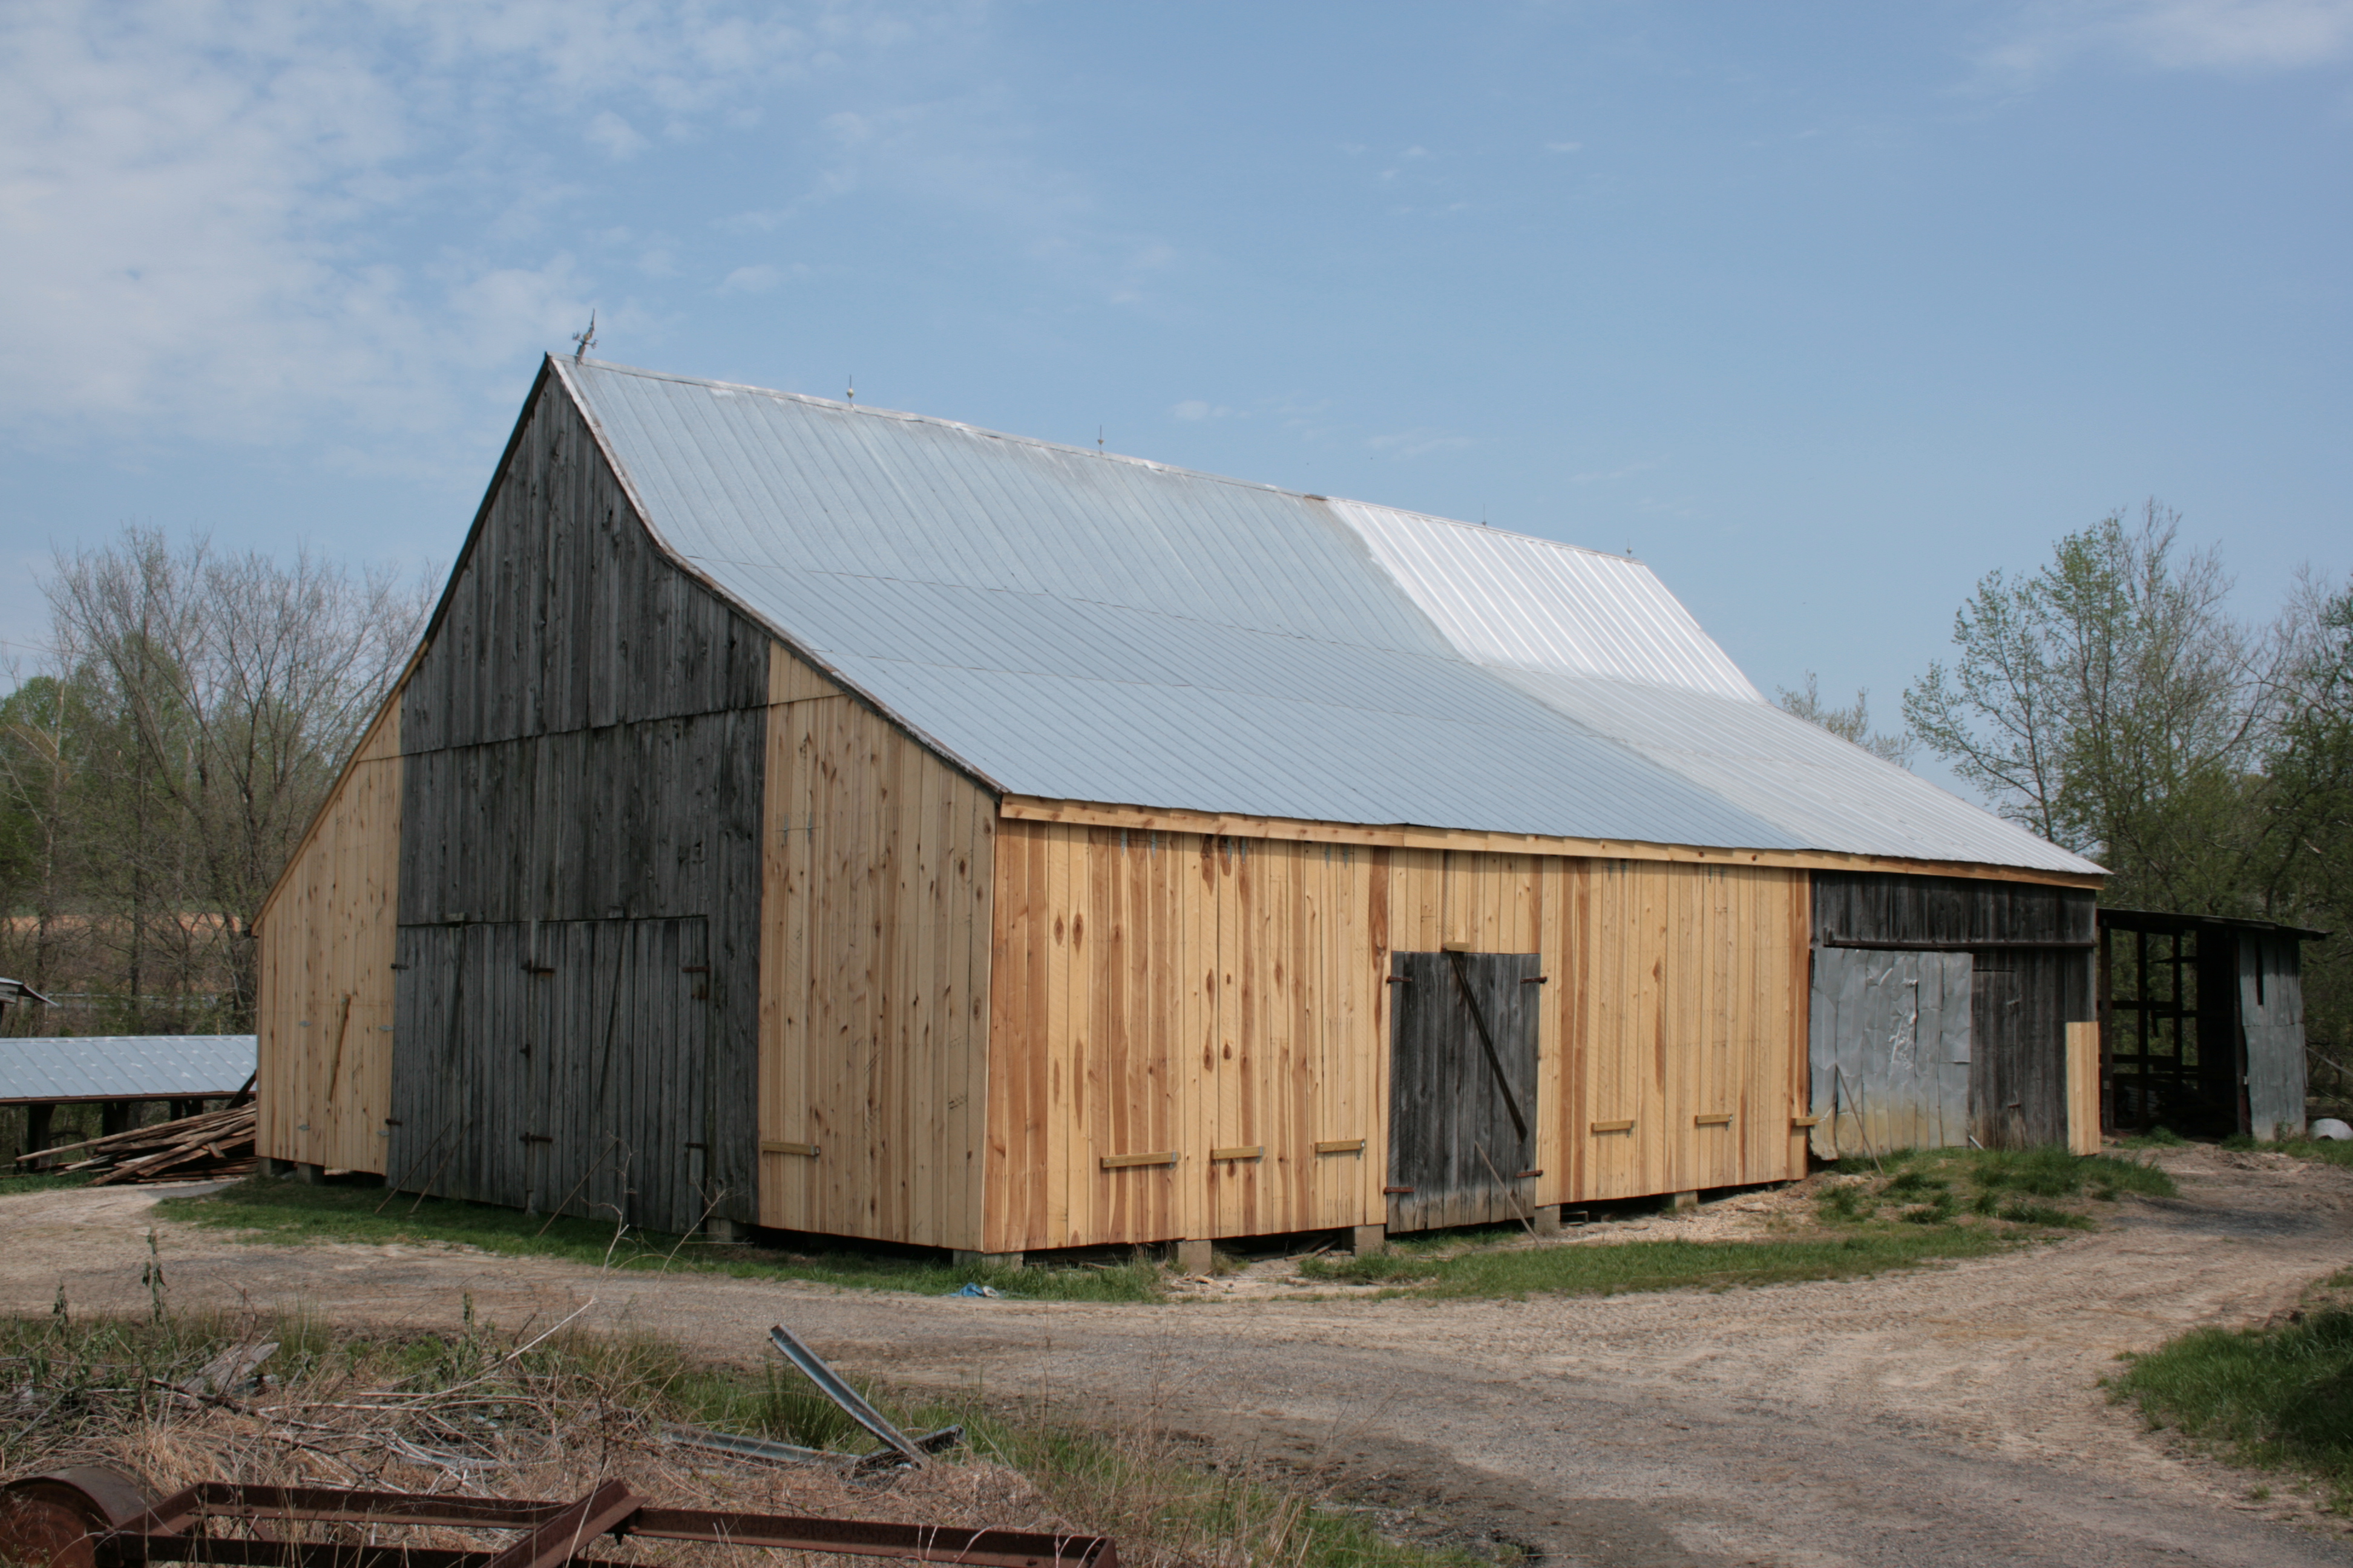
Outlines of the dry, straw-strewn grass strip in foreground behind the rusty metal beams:
M 191 1406 L 176 1382 L 231 1345 L 278 1340 L 266 1410 Z M 776 1436 L 845 1453 L 871 1448 L 798 1373 L 734 1368 L 654 1335 L 565 1331 L 541 1342 L 466 1312 L 459 1333 L 367 1338 L 315 1319 L 174 1316 L 82 1321 L 64 1312 L 0 1319 L 0 1366 L 31 1418 L 0 1418 L 0 1469 L 66 1458 L 141 1474 L 151 1488 L 207 1476 L 332 1481 L 398 1490 L 558 1495 L 619 1474 L 664 1502 L 755 1512 L 901 1516 L 941 1523 L 1094 1530 L 1136 1568 L 1475 1568 L 1466 1552 L 1381 1535 L 1313 1486 L 1212 1469 L 1151 1422 L 1092 1432 L 1019 1403 L 868 1396 L 906 1429 L 962 1425 L 967 1443 L 887 1488 L 824 1467 L 762 1469 L 661 1441 L 664 1422 Z M 864 1387 L 864 1385 L 861 1385 Z M 812 1401 L 831 1418 L 812 1422 Z M 412 1544 L 475 1547 L 480 1540 Z M 504 1542 L 499 1542 L 504 1544 Z M 626 1554 L 626 1549 L 624 1549 Z M 833 1559 L 812 1556 L 809 1563 Z M 767 1563 L 748 1549 L 694 1554 L 701 1568 Z

